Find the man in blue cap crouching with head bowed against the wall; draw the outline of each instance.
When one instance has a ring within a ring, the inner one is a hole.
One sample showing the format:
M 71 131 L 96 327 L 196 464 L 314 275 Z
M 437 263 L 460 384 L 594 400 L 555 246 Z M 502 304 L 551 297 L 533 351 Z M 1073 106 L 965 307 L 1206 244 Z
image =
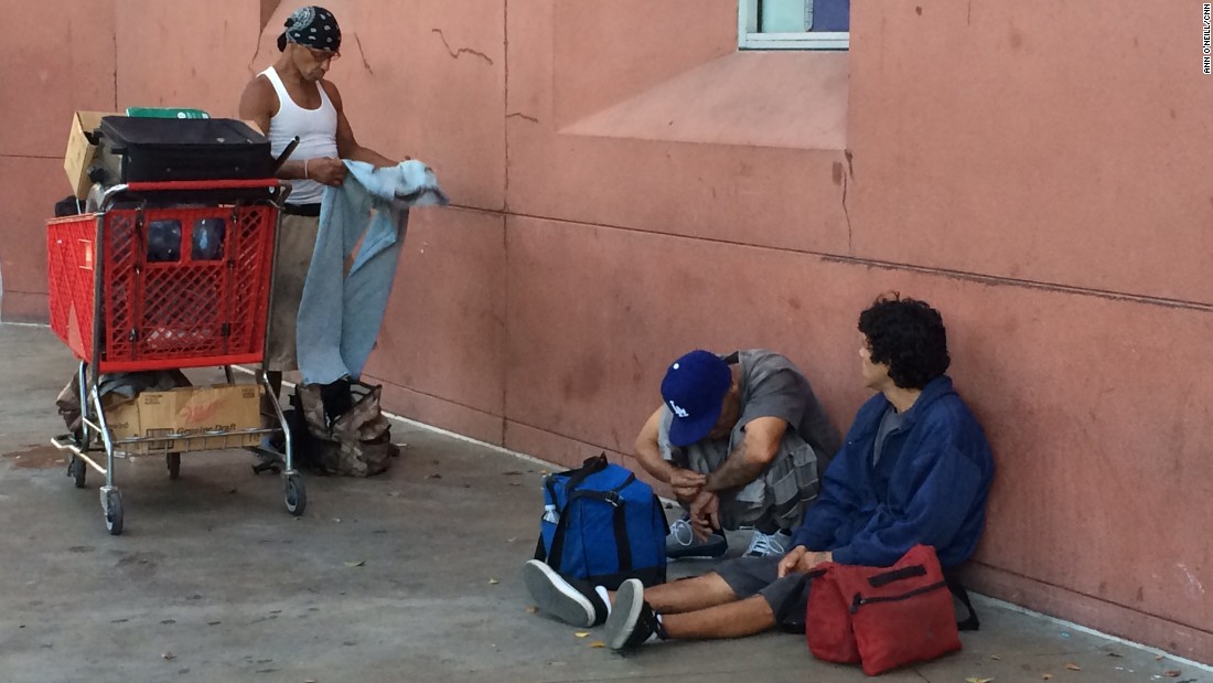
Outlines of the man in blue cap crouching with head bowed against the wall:
M 667 556 L 721 557 L 719 530 L 742 525 L 754 528 L 746 554 L 787 552 L 839 444 L 804 375 L 771 351 L 696 349 L 670 365 L 661 398 L 636 457 L 688 510 Z

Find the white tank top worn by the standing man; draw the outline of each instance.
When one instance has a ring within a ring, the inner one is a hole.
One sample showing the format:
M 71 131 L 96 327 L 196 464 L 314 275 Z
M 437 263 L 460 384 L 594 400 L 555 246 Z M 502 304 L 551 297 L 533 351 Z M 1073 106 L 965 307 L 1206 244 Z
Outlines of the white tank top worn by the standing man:
M 261 72 L 274 86 L 278 93 L 278 113 L 269 119 L 269 150 L 278 156 L 286 149 L 286 146 L 300 137 L 300 144 L 291 153 L 290 161 L 302 161 L 304 159 L 320 159 L 324 156 L 337 156 L 337 108 L 329 101 L 329 93 L 324 86 L 320 89 L 320 107 L 317 109 L 304 109 L 291 99 L 283 85 L 283 79 L 270 66 Z M 319 204 L 324 194 L 324 186 L 308 180 L 294 180 L 291 183 L 290 204 Z

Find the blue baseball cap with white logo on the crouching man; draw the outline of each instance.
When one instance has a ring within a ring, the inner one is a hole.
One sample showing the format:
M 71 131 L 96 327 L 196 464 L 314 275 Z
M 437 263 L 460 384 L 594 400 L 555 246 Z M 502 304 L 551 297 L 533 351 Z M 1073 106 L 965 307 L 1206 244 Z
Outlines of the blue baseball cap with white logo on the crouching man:
M 670 443 L 685 446 L 707 437 L 731 386 L 729 365 L 711 351 L 697 348 L 670 364 L 661 380 L 661 398 L 673 412 Z

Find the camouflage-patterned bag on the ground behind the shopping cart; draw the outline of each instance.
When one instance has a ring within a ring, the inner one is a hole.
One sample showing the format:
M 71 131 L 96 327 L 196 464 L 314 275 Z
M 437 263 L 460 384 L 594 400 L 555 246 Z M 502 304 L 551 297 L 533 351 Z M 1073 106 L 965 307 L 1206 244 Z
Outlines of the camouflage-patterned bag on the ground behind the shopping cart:
M 298 422 L 291 433 L 301 437 L 298 461 L 325 474 L 371 477 L 387 471 L 400 450 L 392 443 L 392 423 L 380 410 L 382 387 L 358 397 L 353 408 L 329 420 L 317 385 L 295 387 Z

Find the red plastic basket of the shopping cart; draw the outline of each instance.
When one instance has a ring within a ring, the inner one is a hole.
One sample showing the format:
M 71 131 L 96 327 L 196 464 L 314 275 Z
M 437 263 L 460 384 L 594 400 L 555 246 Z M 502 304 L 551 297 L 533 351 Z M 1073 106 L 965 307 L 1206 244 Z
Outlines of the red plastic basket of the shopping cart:
M 260 363 L 277 220 L 258 204 L 47 221 L 51 329 L 99 372 Z

